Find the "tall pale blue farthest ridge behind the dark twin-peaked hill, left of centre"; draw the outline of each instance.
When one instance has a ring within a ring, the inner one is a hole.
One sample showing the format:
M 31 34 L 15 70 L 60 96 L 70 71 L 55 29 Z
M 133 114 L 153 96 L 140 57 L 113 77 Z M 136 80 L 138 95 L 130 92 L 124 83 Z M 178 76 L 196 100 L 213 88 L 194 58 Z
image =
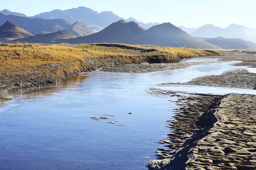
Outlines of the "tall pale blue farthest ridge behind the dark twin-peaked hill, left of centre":
M 86 17 L 85 17 L 86 16 Z M 90 25 L 95 25 L 95 26 L 100 26 L 103 28 L 108 27 L 114 22 L 117 22 L 119 20 L 125 20 L 126 22 L 131 22 L 134 21 L 135 23 L 139 23 L 137 20 L 134 18 L 129 18 L 129 19 L 124 19 L 122 17 L 119 17 L 118 15 L 114 14 L 111 11 L 103 11 L 103 12 L 97 12 L 93 11 L 90 8 L 86 8 L 83 6 L 80 6 L 78 8 L 72 8 L 72 9 L 67 9 L 64 11 L 61 11 L 59 9 L 55 9 L 50 12 L 44 12 L 41 14 L 37 14 L 33 16 L 32 18 L 43 18 L 43 19 L 64 19 L 70 23 L 75 23 L 76 21 L 82 22 L 87 26 Z M 155 26 L 159 23 L 139 23 L 140 26 L 143 28 L 150 28 L 151 26 Z

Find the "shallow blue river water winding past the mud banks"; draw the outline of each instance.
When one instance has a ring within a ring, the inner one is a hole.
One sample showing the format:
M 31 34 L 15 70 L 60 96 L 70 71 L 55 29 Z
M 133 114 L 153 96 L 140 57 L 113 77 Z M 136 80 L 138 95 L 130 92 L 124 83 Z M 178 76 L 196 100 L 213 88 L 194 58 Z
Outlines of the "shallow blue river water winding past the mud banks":
M 165 127 L 166 120 L 172 119 L 171 110 L 176 107 L 167 96 L 156 97 L 146 91 L 168 88 L 198 93 L 254 93 L 242 89 L 157 86 L 242 68 L 233 66 L 235 63 L 217 62 L 143 74 L 92 72 L 56 87 L 17 94 L 0 107 L 0 169 L 146 169 L 145 164 L 156 158 L 157 148 L 163 147 L 157 142 L 170 132 Z M 114 117 L 90 119 L 105 116 L 104 113 Z M 121 124 L 128 126 L 118 126 Z

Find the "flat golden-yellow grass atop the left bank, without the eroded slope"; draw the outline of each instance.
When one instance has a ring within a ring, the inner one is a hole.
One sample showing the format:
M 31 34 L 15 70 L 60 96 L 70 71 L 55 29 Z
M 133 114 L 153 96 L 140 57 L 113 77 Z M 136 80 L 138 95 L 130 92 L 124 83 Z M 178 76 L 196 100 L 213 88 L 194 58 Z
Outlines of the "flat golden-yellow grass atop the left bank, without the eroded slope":
M 88 57 L 143 57 L 150 55 L 168 55 L 187 58 L 193 55 L 202 55 L 209 52 L 188 48 L 169 48 L 148 45 L 125 45 L 141 49 L 155 49 L 156 51 L 143 53 L 141 50 L 106 47 L 99 45 L 40 45 L 40 44 L 0 44 L 0 65 L 16 67 L 19 65 L 41 65 L 47 63 L 62 63 L 84 60 Z M 14 68 L 15 69 L 15 68 Z

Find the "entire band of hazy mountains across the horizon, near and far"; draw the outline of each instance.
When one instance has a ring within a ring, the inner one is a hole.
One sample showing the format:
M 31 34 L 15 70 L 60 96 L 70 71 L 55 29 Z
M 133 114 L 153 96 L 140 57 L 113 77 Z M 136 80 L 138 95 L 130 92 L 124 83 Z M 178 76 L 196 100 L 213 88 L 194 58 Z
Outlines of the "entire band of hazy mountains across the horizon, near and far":
M 8 10 L 0 12 L 0 25 L 10 20 L 1 26 L 0 36 L 5 36 L 2 38 L 2 42 L 7 40 L 11 40 L 9 41 L 11 43 L 67 42 L 79 44 L 108 42 L 183 48 L 256 48 L 255 43 L 244 40 L 256 40 L 256 30 L 236 24 L 231 24 L 227 28 L 215 27 L 208 24 L 200 28 L 185 28 L 179 26 L 180 29 L 171 23 L 144 24 L 131 17 L 127 19 L 126 21 L 128 22 L 126 22 L 123 18 L 113 14 L 113 12 L 104 11 L 98 13 L 85 7 L 64 11 L 54 10 L 38 14 L 34 16 L 35 18 L 20 16 L 26 15 Z M 55 18 L 66 18 L 69 22 L 64 19 Z M 89 23 L 90 27 L 78 20 Z M 113 22 L 114 20 L 119 21 Z M 12 26 L 6 26 L 8 24 L 12 25 L 13 28 Z M 106 28 L 103 26 L 106 26 Z M 146 30 L 143 26 L 148 27 L 148 29 Z M 93 31 L 91 28 L 96 29 L 98 32 L 96 33 L 96 31 Z M 188 33 L 190 33 L 190 35 Z M 35 36 L 32 36 L 32 34 Z M 224 36 L 220 37 L 220 34 L 224 34 Z M 240 39 L 236 37 L 240 37 Z

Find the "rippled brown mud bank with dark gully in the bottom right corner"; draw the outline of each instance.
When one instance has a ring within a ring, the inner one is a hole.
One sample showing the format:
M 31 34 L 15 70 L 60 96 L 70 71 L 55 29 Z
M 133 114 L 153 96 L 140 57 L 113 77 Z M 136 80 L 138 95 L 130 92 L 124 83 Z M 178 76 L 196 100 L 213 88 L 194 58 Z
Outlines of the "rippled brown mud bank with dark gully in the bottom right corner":
M 151 170 L 255 170 L 256 96 L 186 94 L 151 89 L 151 94 L 177 96 L 172 128 Z

